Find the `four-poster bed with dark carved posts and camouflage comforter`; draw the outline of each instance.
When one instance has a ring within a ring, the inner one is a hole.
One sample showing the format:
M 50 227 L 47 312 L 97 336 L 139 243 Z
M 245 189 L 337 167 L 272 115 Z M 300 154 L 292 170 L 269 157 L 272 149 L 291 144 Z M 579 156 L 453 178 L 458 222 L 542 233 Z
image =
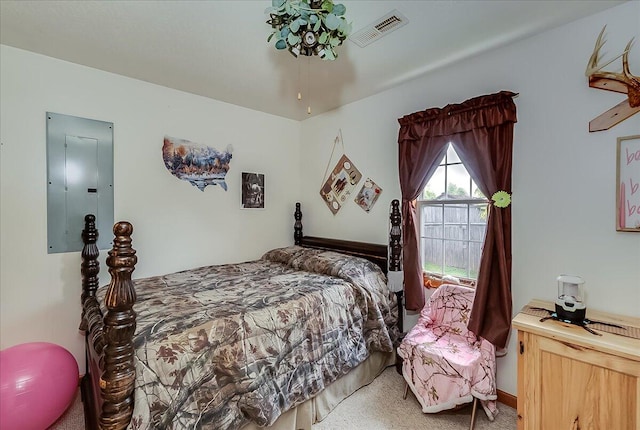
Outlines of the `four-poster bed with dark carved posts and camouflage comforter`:
M 385 273 L 399 254 L 390 263 L 387 245 L 304 236 L 299 203 L 294 219 L 294 245 L 258 260 L 135 281 L 133 227 L 116 223 L 111 281 L 98 288 L 85 217 L 87 428 L 311 430 L 396 363 Z

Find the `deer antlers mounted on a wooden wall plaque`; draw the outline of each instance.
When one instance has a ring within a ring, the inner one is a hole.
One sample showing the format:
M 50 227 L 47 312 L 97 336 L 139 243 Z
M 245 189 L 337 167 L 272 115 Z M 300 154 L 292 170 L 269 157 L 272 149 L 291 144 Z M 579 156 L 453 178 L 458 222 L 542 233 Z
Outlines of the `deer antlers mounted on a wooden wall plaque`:
M 631 50 L 633 39 L 627 43 L 622 54 L 600 65 L 600 49 L 606 43 L 604 39 L 606 28 L 607 26 L 605 25 L 600 31 L 596 46 L 593 48 L 593 54 L 591 54 L 589 64 L 587 64 L 585 75 L 589 78 L 589 87 L 627 94 L 627 98 L 589 121 L 589 132 L 608 130 L 640 112 L 640 77 L 633 76 L 629 71 L 629 51 Z M 620 57 L 622 57 L 622 73 L 602 70 Z

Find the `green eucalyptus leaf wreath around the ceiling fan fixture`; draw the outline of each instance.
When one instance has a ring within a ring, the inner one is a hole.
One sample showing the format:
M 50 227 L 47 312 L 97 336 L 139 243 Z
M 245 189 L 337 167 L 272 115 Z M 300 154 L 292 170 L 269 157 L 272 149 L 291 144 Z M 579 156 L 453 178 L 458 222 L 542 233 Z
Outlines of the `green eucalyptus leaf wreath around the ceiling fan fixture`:
M 267 42 L 275 40 L 276 49 L 288 49 L 294 56 L 317 55 L 323 60 L 335 60 L 335 48 L 351 33 L 351 23 L 344 14 L 343 4 L 332 0 L 272 0 L 267 24 L 273 32 Z

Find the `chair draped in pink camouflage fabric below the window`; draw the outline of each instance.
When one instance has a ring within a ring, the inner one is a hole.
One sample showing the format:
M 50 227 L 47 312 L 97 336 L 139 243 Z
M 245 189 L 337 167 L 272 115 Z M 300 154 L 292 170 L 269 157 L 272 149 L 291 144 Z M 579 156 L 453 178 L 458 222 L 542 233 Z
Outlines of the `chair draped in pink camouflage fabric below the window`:
M 467 329 L 474 294 L 460 285 L 438 287 L 398 346 L 406 381 L 404 398 L 411 388 L 424 413 L 473 401 L 470 429 L 478 400 L 490 421 L 498 413 L 495 347 Z

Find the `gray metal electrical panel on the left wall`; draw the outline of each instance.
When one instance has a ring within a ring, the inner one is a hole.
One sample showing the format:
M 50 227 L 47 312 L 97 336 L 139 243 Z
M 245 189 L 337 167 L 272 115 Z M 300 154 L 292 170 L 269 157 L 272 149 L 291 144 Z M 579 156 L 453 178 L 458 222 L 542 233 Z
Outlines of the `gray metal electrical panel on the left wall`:
M 113 123 L 47 112 L 48 252 L 82 250 L 84 216 L 96 216 L 98 248 L 113 226 Z

